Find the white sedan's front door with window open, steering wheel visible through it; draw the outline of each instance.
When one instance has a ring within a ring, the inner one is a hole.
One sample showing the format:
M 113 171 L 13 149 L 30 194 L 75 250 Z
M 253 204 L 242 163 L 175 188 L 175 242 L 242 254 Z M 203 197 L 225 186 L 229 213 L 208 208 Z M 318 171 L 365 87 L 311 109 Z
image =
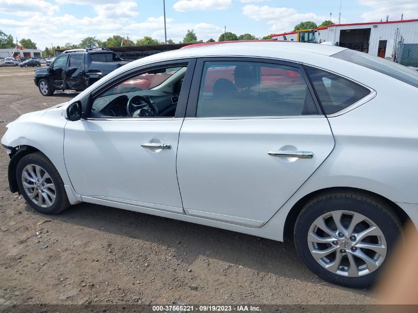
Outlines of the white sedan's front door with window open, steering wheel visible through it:
M 94 91 L 87 119 L 66 124 L 65 165 L 84 201 L 184 214 L 176 153 L 193 67 L 166 62 L 121 74 Z

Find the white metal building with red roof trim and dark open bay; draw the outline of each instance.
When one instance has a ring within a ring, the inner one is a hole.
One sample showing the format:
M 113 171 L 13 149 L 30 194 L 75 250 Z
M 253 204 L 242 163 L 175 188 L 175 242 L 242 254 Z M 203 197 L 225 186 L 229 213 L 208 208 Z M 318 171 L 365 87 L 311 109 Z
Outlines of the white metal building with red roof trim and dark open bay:
M 408 56 L 416 58 L 415 65 L 418 65 L 418 19 L 336 24 L 317 28 L 317 31 L 316 38 L 319 42 L 330 42 L 332 45 L 391 58 L 402 64 L 405 62 L 402 62 L 401 55 L 405 60 Z M 297 33 L 275 34 L 270 37 L 273 40 L 296 41 Z

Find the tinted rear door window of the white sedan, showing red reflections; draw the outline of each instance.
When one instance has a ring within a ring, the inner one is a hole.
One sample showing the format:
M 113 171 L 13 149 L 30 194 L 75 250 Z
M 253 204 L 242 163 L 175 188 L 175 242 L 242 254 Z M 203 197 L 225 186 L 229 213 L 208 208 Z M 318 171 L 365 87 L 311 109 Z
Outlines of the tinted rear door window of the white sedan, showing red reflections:
M 290 116 L 312 104 L 298 68 L 258 62 L 205 62 L 197 117 Z

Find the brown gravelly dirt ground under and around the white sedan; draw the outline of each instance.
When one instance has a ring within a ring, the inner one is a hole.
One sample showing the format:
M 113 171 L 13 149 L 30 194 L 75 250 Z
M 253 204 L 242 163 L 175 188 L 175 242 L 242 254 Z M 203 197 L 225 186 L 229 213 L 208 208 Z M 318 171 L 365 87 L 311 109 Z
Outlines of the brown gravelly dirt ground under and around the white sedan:
M 74 96 L 43 97 L 33 83 L 33 70 L 0 68 L 0 136 L 19 115 Z M 56 216 L 39 214 L 10 193 L 8 162 L 3 149 L 0 304 L 373 302 L 369 290 L 316 277 L 299 261 L 291 242 L 91 204 Z

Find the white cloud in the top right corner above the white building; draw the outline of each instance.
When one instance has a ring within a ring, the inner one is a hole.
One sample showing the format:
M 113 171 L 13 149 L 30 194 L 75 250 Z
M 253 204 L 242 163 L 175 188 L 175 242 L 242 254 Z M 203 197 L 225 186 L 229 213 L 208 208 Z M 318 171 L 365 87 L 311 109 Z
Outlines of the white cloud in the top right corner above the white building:
M 370 7 L 372 10 L 362 14 L 364 21 L 383 21 L 386 20 L 386 15 L 389 15 L 389 20 L 400 20 L 402 13 L 404 19 L 414 19 L 418 16 L 418 1 L 417 0 L 358 0 L 364 6 Z

